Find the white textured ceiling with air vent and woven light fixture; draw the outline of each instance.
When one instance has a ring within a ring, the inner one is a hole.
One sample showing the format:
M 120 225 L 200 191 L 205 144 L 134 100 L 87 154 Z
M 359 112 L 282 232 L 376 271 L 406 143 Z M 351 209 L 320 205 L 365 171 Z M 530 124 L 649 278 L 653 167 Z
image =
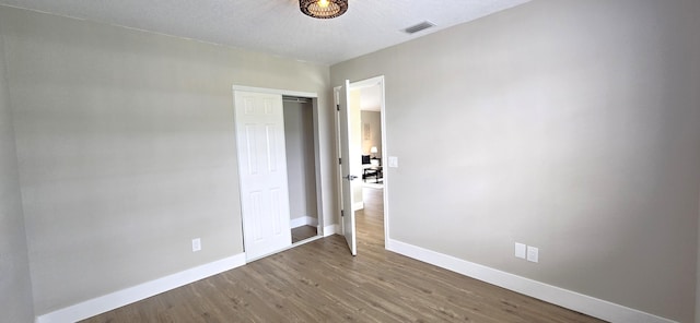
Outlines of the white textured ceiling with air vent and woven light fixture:
M 298 0 L 0 0 L 0 4 L 334 64 L 529 0 L 349 0 L 332 20 Z M 423 21 L 436 24 L 408 35 Z

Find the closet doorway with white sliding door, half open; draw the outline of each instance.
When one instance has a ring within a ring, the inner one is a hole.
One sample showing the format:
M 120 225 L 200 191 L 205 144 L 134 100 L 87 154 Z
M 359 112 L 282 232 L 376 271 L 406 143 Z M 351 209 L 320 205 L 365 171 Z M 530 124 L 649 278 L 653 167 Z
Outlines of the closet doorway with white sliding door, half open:
M 234 86 L 233 95 L 243 240 L 250 262 L 323 235 L 317 95 L 247 86 Z M 314 230 L 293 241 L 292 225 L 299 223 Z

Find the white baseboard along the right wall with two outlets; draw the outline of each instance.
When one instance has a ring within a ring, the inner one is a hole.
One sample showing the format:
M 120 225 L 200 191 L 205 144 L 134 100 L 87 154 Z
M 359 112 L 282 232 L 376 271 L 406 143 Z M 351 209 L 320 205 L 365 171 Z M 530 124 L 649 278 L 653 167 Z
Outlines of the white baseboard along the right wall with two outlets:
M 608 322 L 676 323 L 639 310 L 388 239 L 386 249 Z

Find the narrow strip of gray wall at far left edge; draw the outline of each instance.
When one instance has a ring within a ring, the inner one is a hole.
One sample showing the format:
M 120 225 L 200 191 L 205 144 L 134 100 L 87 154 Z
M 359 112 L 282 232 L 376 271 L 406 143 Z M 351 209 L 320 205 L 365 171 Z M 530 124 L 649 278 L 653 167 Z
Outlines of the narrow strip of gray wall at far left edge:
M 30 261 L 2 40 L 0 33 L 0 321 L 33 322 Z

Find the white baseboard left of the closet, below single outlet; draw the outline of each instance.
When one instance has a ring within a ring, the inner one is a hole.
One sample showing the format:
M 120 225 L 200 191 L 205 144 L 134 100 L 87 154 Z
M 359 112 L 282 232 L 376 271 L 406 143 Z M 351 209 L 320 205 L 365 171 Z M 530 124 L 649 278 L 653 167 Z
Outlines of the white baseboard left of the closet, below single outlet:
M 36 318 L 37 323 L 77 322 L 245 265 L 245 253 L 93 298 Z

